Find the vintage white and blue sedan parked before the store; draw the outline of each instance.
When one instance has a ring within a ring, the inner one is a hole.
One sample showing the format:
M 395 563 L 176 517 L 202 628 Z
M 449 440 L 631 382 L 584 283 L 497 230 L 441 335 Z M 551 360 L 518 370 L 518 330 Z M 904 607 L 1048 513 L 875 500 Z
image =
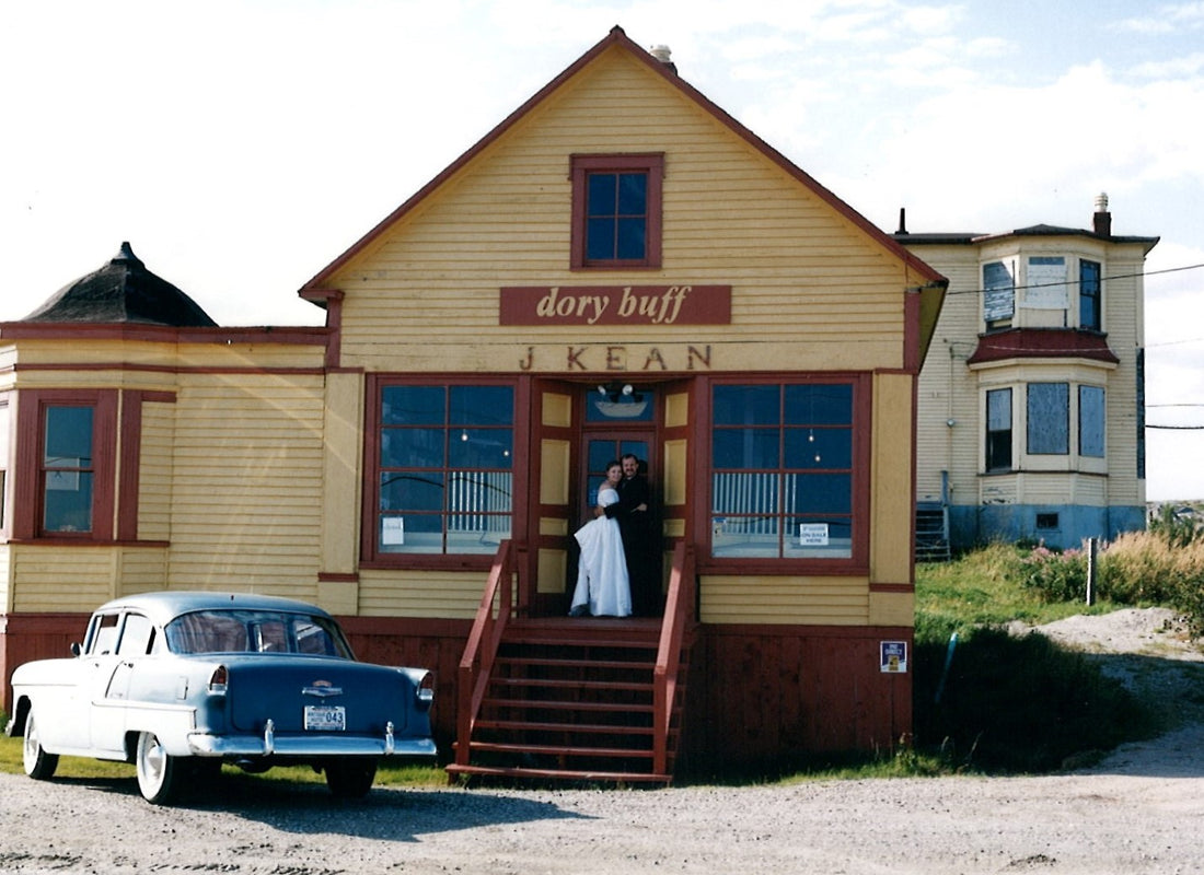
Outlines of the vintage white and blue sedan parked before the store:
M 356 662 L 320 608 L 268 596 L 155 592 L 101 605 L 73 658 L 12 675 L 8 734 L 30 778 L 60 755 L 132 762 L 142 796 L 176 800 L 234 763 L 308 764 L 364 796 L 380 757 L 435 756 L 431 674 Z

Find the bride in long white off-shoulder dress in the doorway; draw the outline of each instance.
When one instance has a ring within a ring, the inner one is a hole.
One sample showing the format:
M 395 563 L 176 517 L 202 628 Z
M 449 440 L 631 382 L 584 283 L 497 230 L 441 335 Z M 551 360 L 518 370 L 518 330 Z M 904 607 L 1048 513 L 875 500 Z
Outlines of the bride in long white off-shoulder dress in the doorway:
M 571 616 L 630 616 L 631 583 L 622 552 L 622 536 L 618 520 L 608 520 L 602 508 L 619 501 L 622 465 L 610 462 L 606 483 L 598 487 L 595 518 L 577 530 L 573 537 L 582 545 L 577 567 L 577 589 L 573 591 Z

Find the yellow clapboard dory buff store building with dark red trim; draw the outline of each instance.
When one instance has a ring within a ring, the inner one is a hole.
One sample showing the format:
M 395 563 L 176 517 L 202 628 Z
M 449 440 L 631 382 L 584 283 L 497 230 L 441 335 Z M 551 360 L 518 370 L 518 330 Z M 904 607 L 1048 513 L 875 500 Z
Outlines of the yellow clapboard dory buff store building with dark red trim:
M 907 737 L 945 279 L 659 54 L 615 28 L 306 284 L 324 329 L 0 326 L 5 676 L 112 596 L 232 587 L 432 668 L 458 771 Z M 663 615 L 569 619 L 622 451 Z

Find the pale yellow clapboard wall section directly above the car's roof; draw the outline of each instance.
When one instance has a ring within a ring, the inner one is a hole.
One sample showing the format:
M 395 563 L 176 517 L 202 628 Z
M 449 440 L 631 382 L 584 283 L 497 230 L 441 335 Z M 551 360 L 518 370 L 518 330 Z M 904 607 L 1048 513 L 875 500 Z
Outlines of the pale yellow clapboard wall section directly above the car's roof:
M 323 386 L 318 377 L 193 374 L 175 415 L 176 589 L 315 595 Z

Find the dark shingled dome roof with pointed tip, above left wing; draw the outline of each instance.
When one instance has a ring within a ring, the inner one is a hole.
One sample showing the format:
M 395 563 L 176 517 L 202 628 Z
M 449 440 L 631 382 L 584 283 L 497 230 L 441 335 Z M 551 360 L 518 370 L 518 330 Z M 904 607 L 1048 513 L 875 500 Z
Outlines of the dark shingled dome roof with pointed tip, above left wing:
M 122 243 L 107 265 L 65 285 L 20 321 L 217 326 L 193 298 L 148 271 L 129 243 Z

